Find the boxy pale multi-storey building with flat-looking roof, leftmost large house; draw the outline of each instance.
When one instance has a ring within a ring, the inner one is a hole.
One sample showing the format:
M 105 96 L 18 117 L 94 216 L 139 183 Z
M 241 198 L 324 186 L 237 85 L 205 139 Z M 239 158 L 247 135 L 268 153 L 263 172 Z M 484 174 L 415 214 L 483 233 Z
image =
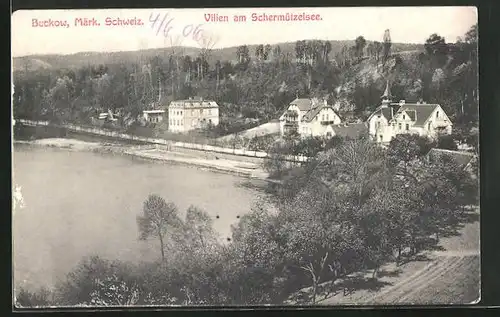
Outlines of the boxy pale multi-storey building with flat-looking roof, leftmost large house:
M 172 101 L 168 107 L 168 130 L 182 133 L 219 125 L 219 105 L 212 100 L 189 98 Z

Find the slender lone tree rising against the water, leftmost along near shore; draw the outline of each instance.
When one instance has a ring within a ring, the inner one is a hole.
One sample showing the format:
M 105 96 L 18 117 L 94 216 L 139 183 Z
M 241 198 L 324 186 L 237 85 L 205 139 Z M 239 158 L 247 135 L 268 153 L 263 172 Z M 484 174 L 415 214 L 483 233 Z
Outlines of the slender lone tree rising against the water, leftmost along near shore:
M 161 257 L 162 260 L 165 260 L 164 239 L 167 228 L 169 226 L 178 227 L 179 223 L 177 207 L 173 203 L 167 203 L 158 195 L 149 195 L 144 202 L 143 215 L 137 216 L 139 239 L 158 238 L 160 240 Z

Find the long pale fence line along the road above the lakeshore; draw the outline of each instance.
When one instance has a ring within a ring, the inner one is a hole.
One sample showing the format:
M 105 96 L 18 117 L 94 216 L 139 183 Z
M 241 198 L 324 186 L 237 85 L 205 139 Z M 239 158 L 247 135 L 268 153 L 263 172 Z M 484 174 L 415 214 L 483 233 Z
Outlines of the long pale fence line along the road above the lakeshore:
M 32 126 L 49 126 L 50 125 L 50 126 L 58 127 L 58 128 L 65 128 L 65 129 L 68 129 L 70 131 L 84 132 L 84 133 L 107 136 L 107 137 L 123 139 L 123 140 L 132 140 L 132 141 L 140 141 L 140 142 L 144 142 L 144 143 L 160 144 L 160 145 L 167 146 L 168 149 L 170 149 L 172 147 L 177 147 L 177 148 L 185 148 L 185 149 L 199 150 L 199 151 L 205 151 L 205 152 L 225 153 L 225 154 L 231 154 L 231 155 L 248 156 L 248 157 L 256 157 L 256 158 L 266 158 L 269 156 L 268 153 L 261 152 L 261 151 L 250 151 L 250 150 L 246 150 L 246 149 L 223 148 L 223 147 L 219 147 L 219 146 L 212 146 L 212 145 L 206 145 L 206 144 L 174 142 L 174 141 L 165 140 L 165 139 L 140 137 L 140 136 L 135 136 L 135 135 L 131 135 L 131 134 L 119 133 L 116 131 L 106 131 L 106 130 L 99 129 L 99 128 L 85 128 L 85 127 L 81 127 L 81 126 L 77 126 L 77 125 L 73 125 L 73 124 L 51 124 L 48 121 L 31 121 L 31 120 L 24 120 L 24 119 L 17 120 L 17 122 L 23 123 L 26 125 L 32 125 Z M 297 155 L 297 156 L 290 155 L 288 157 L 285 157 L 284 160 L 291 161 L 291 162 L 305 162 L 305 161 L 307 161 L 307 159 L 308 158 L 306 156 L 302 156 L 302 155 Z

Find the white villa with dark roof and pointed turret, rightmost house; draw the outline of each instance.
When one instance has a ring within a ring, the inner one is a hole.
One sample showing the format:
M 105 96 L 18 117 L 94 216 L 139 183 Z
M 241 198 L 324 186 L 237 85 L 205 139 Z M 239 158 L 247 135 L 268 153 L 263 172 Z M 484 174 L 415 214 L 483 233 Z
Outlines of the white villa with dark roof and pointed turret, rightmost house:
M 425 102 L 409 104 L 404 100 L 393 103 L 389 83 L 381 98 L 382 104 L 367 120 L 368 132 L 376 142 L 388 143 L 402 133 L 430 138 L 451 134 L 453 124 L 440 105 Z

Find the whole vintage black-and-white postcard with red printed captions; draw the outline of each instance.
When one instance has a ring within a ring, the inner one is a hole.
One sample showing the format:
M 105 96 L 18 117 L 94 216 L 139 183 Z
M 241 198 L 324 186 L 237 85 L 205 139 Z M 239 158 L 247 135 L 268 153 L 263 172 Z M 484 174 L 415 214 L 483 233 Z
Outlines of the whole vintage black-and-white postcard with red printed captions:
M 477 303 L 474 7 L 12 15 L 13 303 Z

